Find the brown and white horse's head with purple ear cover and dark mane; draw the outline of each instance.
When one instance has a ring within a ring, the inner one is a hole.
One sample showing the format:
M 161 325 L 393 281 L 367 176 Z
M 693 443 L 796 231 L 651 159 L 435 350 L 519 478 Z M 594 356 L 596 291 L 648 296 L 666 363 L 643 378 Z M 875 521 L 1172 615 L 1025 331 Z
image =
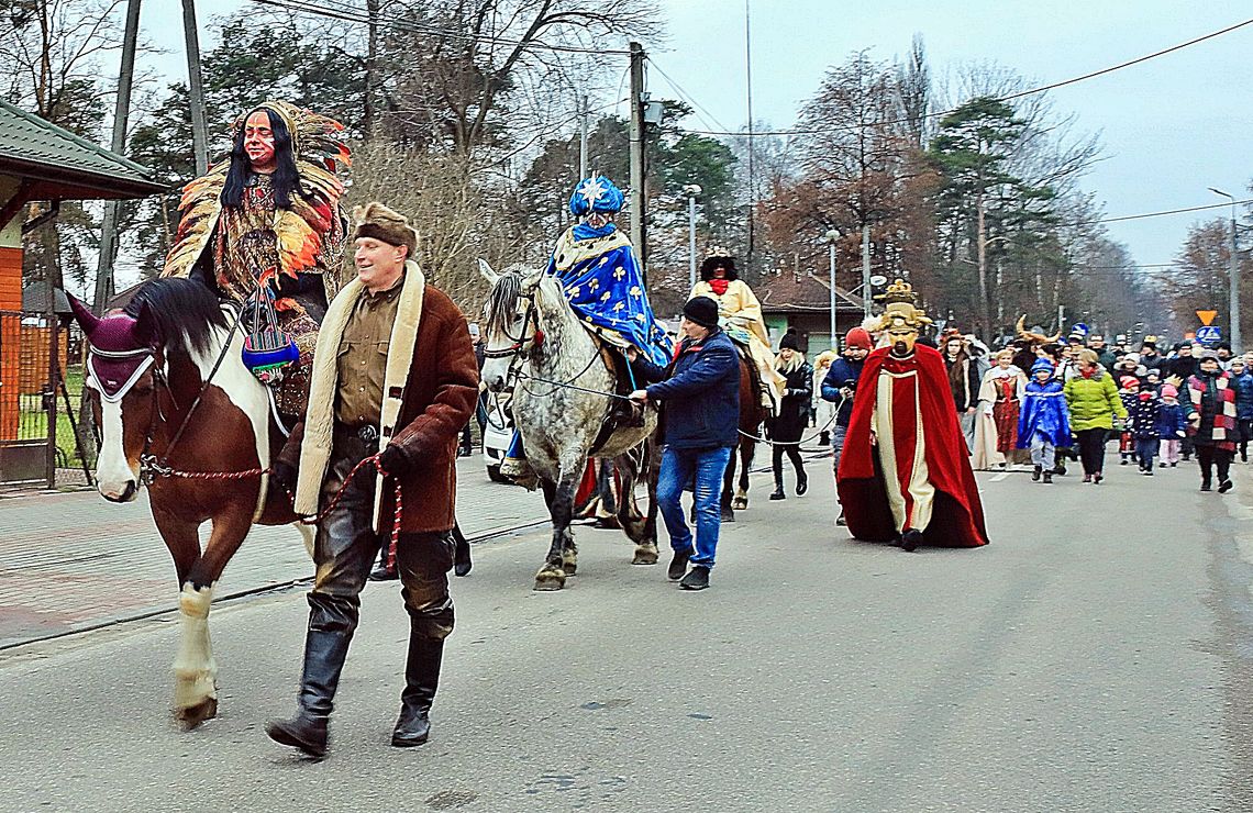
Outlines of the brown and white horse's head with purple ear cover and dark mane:
M 226 317 L 217 297 L 189 279 L 154 279 L 103 317 L 73 297 L 70 306 L 90 344 L 84 393 L 100 427 L 96 489 L 129 502 L 139 491 L 140 457 L 174 406 L 170 355 L 207 350 L 212 327 L 226 327 Z

